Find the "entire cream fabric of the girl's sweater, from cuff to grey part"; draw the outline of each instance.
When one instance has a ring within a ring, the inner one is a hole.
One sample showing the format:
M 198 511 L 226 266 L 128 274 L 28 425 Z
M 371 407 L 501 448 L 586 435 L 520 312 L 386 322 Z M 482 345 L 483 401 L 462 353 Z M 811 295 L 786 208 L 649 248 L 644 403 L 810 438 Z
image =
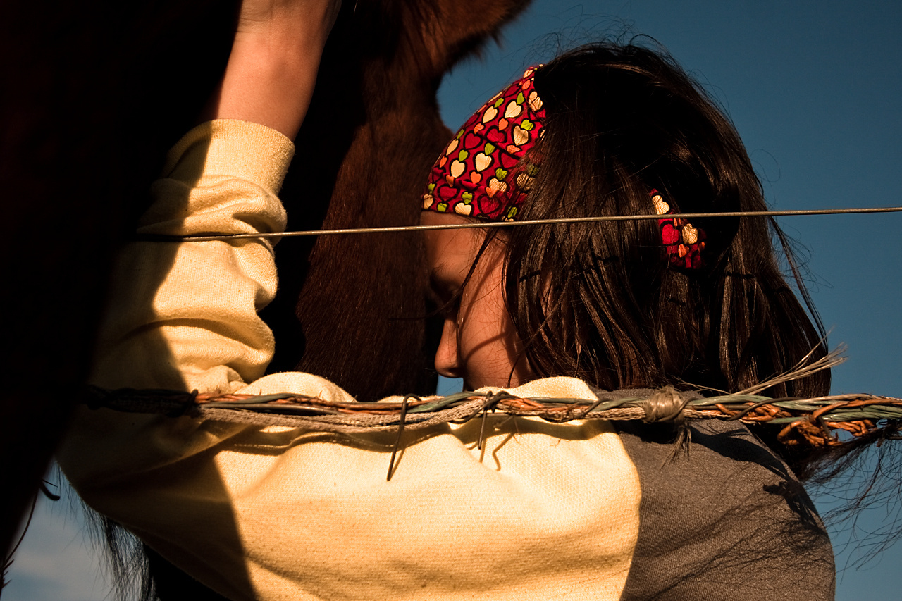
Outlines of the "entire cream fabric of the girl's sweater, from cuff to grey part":
M 201 125 L 170 153 L 142 231 L 280 231 L 292 146 L 260 125 Z M 92 383 L 307 393 L 261 377 L 272 245 L 143 242 L 115 264 Z M 250 383 L 250 384 L 245 384 Z M 515 392 L 594 398 L 569 378 Z M 605 423 L 490 417 L 394 436 L 338 436 L 78 411 L 59 451 L 80 495 L 232 599 L 616 599 L 639 530 L 640 485 Z

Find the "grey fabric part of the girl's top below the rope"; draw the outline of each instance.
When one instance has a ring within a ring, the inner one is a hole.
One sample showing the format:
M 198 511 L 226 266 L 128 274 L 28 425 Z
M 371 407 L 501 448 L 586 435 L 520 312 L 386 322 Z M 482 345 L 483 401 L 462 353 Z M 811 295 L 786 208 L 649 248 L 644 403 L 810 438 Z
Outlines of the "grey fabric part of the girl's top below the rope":
M 833 599 L 833 549 L 804 487 L 742 424 L 617 422 L 640 474 L 639 541 L 622 599 Z

